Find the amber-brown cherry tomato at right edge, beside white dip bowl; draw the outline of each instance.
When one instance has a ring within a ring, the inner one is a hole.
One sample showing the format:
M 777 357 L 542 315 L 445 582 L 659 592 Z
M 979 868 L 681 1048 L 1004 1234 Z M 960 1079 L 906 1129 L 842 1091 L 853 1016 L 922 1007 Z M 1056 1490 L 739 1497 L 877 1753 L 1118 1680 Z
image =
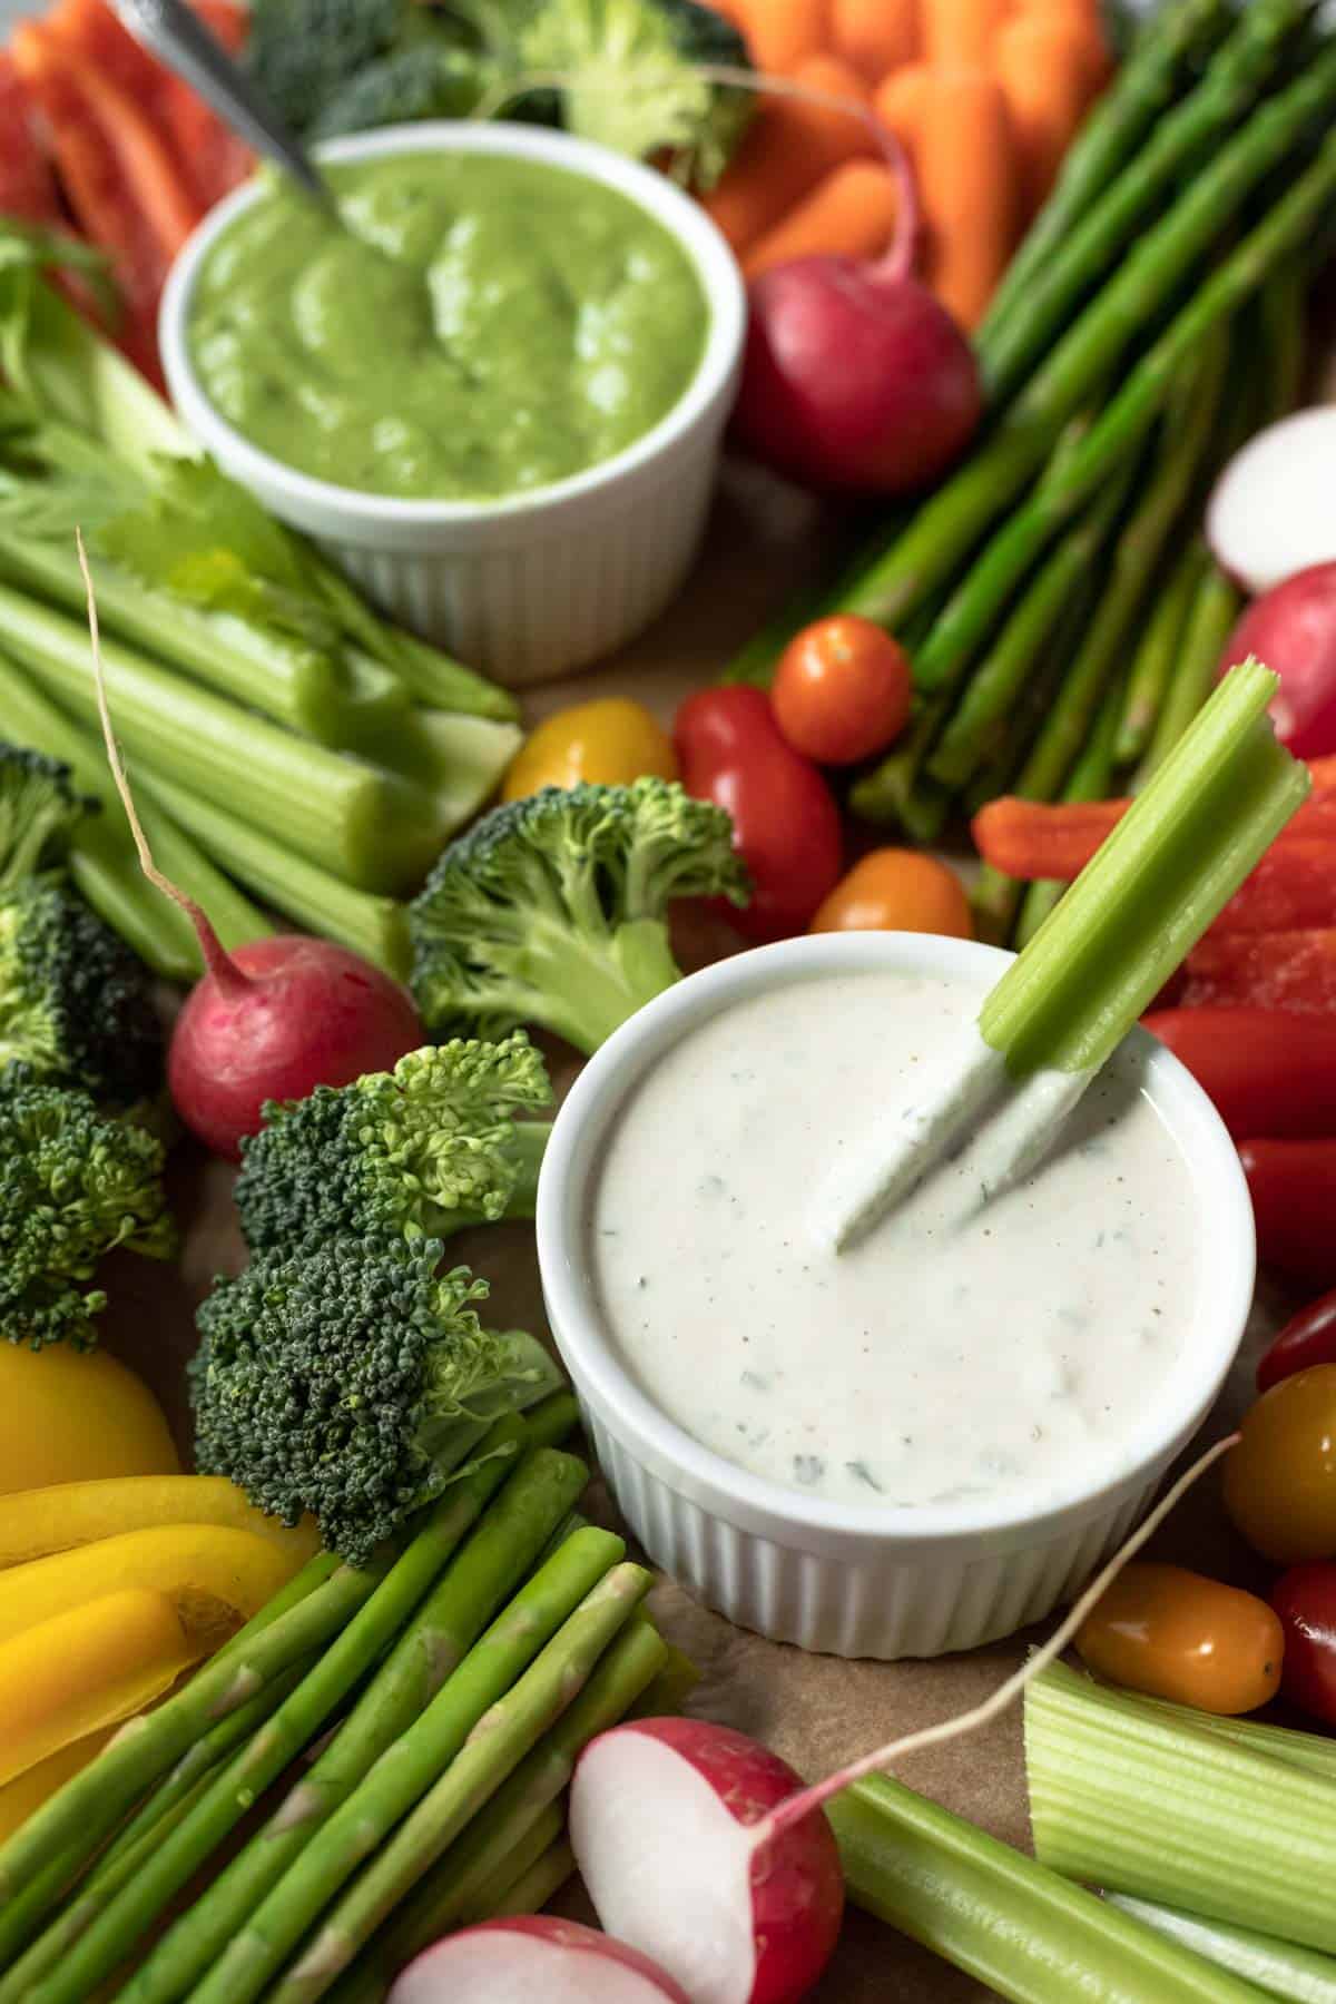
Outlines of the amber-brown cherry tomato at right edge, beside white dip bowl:
M 1224 1507 L 1274 1565 L 1336 1555 L 1336 1365 L 1272 1385 L 1224 1463 Z

